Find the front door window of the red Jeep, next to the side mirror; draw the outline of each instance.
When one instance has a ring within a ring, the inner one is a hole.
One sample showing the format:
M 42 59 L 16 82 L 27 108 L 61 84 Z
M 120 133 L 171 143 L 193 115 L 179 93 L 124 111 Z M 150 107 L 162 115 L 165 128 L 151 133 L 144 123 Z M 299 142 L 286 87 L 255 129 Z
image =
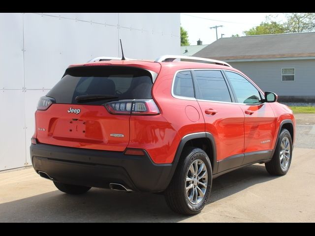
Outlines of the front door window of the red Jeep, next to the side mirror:
M 225 71 L 225 73 L 239 103 L 260 103 L 259 91 L 247 79 L 234 72 Z

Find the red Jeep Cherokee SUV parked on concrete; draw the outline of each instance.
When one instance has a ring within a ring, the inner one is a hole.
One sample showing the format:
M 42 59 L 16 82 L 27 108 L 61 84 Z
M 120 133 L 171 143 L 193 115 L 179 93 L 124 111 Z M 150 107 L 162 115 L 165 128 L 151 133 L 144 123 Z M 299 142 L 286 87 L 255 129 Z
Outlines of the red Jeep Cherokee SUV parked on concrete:
M 70 65 L 35 118 L 32 165 L 59 190 L 163 192 L 182 214 L 200 212 L 224 173 L 265 163 L 285 175 L 295 135 L 275 93 L 226 62 L 184 56 Z

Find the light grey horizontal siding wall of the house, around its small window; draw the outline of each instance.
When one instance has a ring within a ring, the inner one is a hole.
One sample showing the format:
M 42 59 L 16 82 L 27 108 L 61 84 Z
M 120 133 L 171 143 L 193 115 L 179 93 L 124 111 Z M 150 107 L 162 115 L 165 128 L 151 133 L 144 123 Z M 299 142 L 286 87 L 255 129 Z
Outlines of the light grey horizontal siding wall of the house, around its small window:
M 315 60 L 229 62 L 262 90 L 278 95 L 315 96 Z M 295 68 L 295 81 L 282 82 L 282 68 Z

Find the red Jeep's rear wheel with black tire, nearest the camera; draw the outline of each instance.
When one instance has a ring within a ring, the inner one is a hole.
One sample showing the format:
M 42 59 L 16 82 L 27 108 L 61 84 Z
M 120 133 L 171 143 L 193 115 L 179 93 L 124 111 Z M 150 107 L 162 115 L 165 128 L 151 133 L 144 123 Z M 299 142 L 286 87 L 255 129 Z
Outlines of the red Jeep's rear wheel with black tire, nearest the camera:
M 193 167 L 195 163 L 197 163 L 197 168 Z M 202 164 L 204 164 L 204 168 L 201 170 L 200 167 Z M 193 178 L 195 169 L 197 169 L 197 176 Z M 193 170 L 193 173 L 191 170 Z M 207 172 L 205 172 L 205 170 Z M 205 173 L 206 175 L 202 177 Z M 187 181 L 186 177 L 191 177 L 189 178 L 191 180 Z M 197 177 L 199 180 L 196 182 Z M 200 148 L 185 148 L 172 181 L 165 190 L 164 196 L 166 203 L 168 207 L 177 213 L 184 215 L 197 214 L 206 205 L 210 196 L 211 185 L 212 168 L 207 153 Z M 190 187 L 188 192 L 186 191 L 187 186 Z M 195 193 L 197 193 L 197 195 L 195 195 Z M 204 194 L 203 197 L 201 197 L 201 193 Z

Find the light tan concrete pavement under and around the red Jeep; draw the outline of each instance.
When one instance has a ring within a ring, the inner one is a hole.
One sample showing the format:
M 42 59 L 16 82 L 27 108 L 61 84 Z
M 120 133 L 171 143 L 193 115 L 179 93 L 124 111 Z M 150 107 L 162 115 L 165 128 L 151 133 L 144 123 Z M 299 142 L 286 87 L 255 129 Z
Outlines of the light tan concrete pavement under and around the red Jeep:
M 67 195 L 27 168 L 0 172 L 0 222 L 315 222 L 313 128 L 298 123 L 287 175 L 272 177 L 255 164 L 218 177 L 198 215 L 172 212 L 159 194 L 92 188 Z

